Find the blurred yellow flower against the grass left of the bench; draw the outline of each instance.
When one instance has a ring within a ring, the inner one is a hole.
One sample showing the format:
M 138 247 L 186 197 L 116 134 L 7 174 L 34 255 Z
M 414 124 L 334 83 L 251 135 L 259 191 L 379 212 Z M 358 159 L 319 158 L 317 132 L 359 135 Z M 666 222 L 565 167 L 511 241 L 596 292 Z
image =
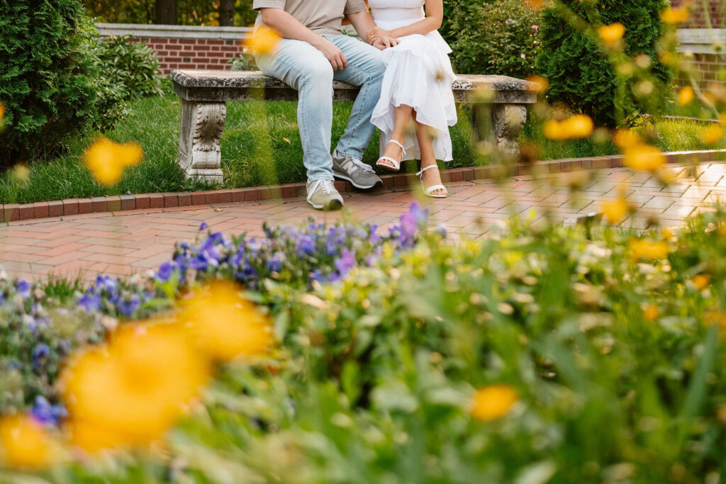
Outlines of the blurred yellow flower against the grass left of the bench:
M 118 144 L 102 136 L 86 149 L 83 160 L 100 184 L 110 186 L 121 180 L 123 170 L 141 163 L 143 156 L 138 144 Z

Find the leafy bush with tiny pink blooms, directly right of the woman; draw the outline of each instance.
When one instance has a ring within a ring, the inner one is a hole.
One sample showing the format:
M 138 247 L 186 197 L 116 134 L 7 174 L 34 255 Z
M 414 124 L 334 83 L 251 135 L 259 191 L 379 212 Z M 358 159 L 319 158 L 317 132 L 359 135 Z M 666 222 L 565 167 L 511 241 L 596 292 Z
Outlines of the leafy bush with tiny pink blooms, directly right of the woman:
M 540 50 L 542 15 L 525 1 L 447 2 L 441 32 L 462 74 L 501 74 L 524 78 L 534 73 Z

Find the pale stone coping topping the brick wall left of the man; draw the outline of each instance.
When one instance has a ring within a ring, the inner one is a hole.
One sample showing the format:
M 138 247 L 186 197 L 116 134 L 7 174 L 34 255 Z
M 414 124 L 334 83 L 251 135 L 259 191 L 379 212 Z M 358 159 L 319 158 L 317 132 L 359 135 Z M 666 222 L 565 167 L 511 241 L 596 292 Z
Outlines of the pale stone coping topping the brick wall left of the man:
M 198 25 L 145 25 L 131 23 L 97 23 L 99 35 L 134 36 L 137 38 L 197 38 L 242 41 L 252 33 L 250 27 L 206 27 Z

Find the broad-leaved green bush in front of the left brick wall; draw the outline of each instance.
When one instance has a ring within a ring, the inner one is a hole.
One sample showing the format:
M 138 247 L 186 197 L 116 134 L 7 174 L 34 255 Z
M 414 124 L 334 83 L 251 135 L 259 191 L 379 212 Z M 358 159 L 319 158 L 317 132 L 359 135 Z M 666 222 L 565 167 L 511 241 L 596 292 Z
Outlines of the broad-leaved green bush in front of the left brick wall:
M 110 37 L 99 42 L 97 55 L 103 78 L 122 89 L 126 99 L 162 94 L 157 54 L 143 42 Z

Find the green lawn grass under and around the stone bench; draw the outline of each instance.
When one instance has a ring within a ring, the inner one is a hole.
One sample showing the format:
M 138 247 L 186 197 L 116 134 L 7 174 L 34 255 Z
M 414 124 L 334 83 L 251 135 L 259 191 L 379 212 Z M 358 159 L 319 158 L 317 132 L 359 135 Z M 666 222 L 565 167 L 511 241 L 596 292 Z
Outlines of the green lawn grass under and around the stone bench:
M 201 185 L 184 180 L 176 165 L 179 143 L 181 103 L 174 95 L 140 99 L 131 104 L 132 115 L 118 124 L 110 139 L 137 141 L 145 153 L 144 162 L 131 168 L 113 187 L 97 184 L 84 168 L 81 155 L 97 134 L 68 143 L 65 155 L 51 161 L 30 163 L 30 178 L 19 184 L 9 173 L 0 173 L 0 202 L 29 203 L 76 197 L 97 197 L 126 193 L 178 192 L 219 186 Z M 296 103 L 231 102 L 227 107 L 227 127 L 221 140 L 224 187 L 237 188 L 261 184 L 303 181 L 305 169 L 296 122 Z M 346 127 L 350 103 L 334 104 L 333 146 Z M 700 123 L 662 120 L 656 123 L 651 142 L 664 150 L 703 149 Z M 647 127 L 640 128 L 645 131 Z M 471 166 L 477 162 L 469 147 L 469 108 L 460 107 L 459 124 L 451 130 L 454 145 L 452 167 Z M 612 155 L 617 152 L 610 142 L 596 144 L 588 140 L 560 143 L 542 134 L 542 123 L 530 120 L 521 141 L 534 141 L 541 147 L 540 157 L 553 160 L 566 157 Z M 726 144 L 719 144 L 724 147 Z M 373 164 L 378 158 L 378 134 L 365 152 L 364 161 Z M 407 171 L 415 171 L 408 163 Z

